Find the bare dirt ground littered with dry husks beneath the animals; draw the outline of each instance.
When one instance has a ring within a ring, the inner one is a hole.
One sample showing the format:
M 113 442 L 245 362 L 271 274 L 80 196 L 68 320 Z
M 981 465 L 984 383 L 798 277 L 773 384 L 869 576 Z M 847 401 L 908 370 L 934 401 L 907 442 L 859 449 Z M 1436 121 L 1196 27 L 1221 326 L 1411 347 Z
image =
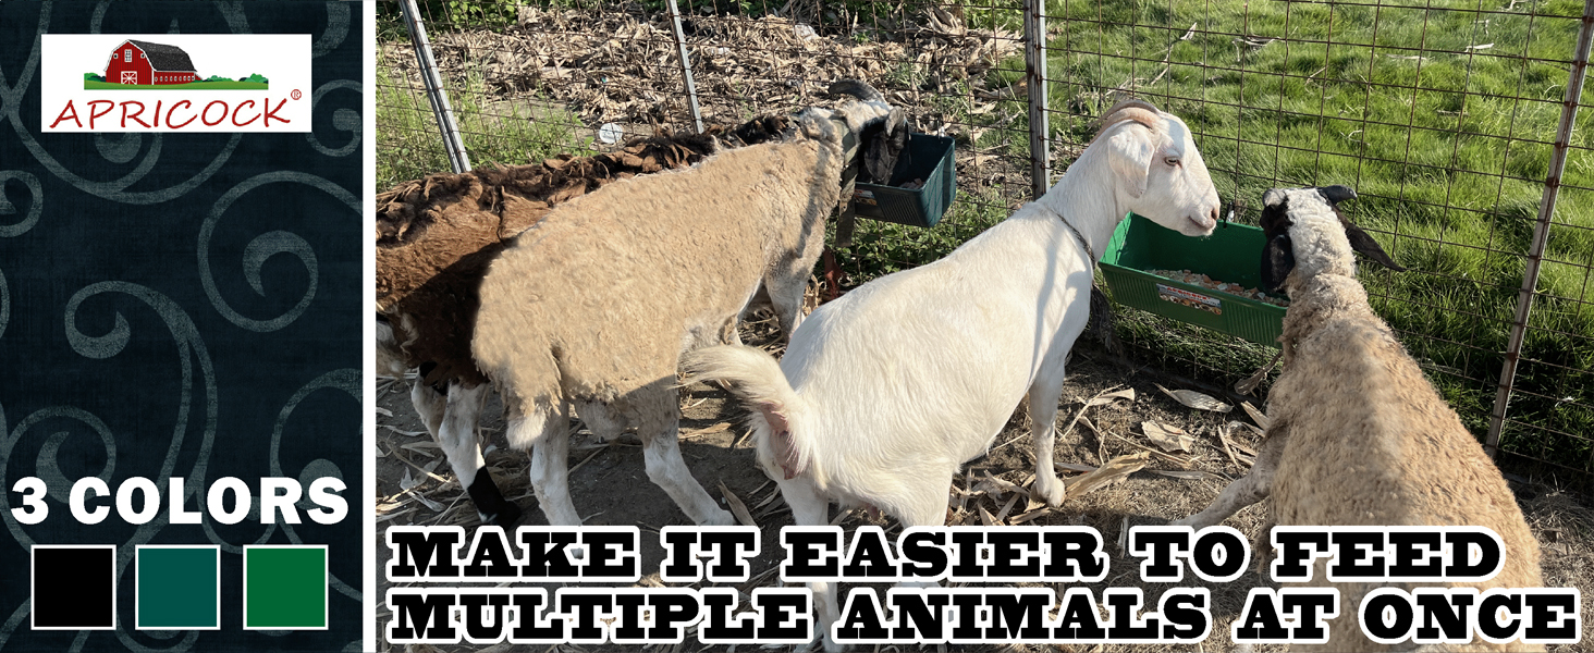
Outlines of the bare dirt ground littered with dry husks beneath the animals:
M 767 323 L 765 323 L 767 326 Z M 759 342 L 767 338 L 757 328 L 744 328 L 744 339 Z M 1101 532 L 1106 549 L 1111 556 L 1109 572 L 1105 581 L 1089 585 L 1097 596 L 1101 589 L 1113 586 L 1138 586 L 1144 591 L 1146 600 L 1156 605 L 1162 591 L 1172 585 L 1143 583 L 1138 575 L 1138 557 L 1127 556 L 1124 537 L 1127 529 L 1137 524 L 1165 524 L 1170 519 L 1183 518 L 1199 511 L 1227 484 L 1248 468 L 1247 451 L 1254 451 L 1259 435 L 1250 427 L 1232 422 L 1253 422 L 1242 408 L 1234 411 L 1210 413 L 1191 409 L 1175 401 L 1159 390 L 1157 384 L 1176 390 L 1154 370 L 1137 368 L 1129 362 L 1111 357 L 1105 352 L 1089 349 L 1084 342 L 1076 347 L 1068 368 L 1068 381 L 1060 400 L 1057 443 L 1058 473 L 1065 478 L 1078 476 L 1078 470 L 1098 467 L 1103 460 L 1156 449 L 1146 467 L 1140 471 L 1119 478 L 1116 483 L 1082 495 L 1071 494 L 1068 500 L 1054 510 L 1030 511 L 1033 503 L 1023 492 L 1014 492 L 999 481 L 988 481 L 987 476 L 1015 484 L 1028 486 L 1035 473 L 1035 454 L 1030 444 L 1028 424 L 1022 411 L 1015 411 L 1003 433 L 991 443 L 988 454 L 964 465 L 964 475 L 948 492 L 948 524 L 982 524 L 985 518 L 998 522 L 1019 521 L 1027 518 L 1027 524 L 1082 524 Z M 1109 403 L 1089 406 L 1086 403 L 1098 395 L 1133 390 L 1133 400 L 1116 398 Z M 442 451 L 432 443 L 410 406 L 406 381 L 383 381 L 378 385 L 378 570 L 387 565 L 386 530 L 391 526 L 432 526 L 459 524 L 467 529 L 478 524 L 477 513 L 470 506 L 469 497 L 454 483 Z M 1261 401 L 1253 401 L 1261 408 Z M 711 495 L 724 502 L 724 492 L 733 494 L 751 511 L 762 529 L 762 554 L 756 559 L 752 578 L 738 588 L 743 592 L 757 586 L 776 586 L 776 564 L 781 557 L 778 534 L 781 526 L 791 526 L 791 510 L 779 499 L 775 483 L 768 481 L 754 467 L 751 438 L 743 425 L 743 411 L 733 400 L 719 389 L 697 384 L 682 390 L 681 406 L 684 420 L 681 424 L 681 452 L 693 476 L 709 491 Z M 1084 411 L 1082 411 L 1084 409 Z M 1084 414 L 1073 428 L 1070 420 L 1076 414 Z M 1143 422 L 1162 422 L 1183 428 L 1194 436 L 1191 452 L 1165 454 L 1152 446 L 1141 427 Z M 577 428 L 580 428 L 577 425 Z M 488 403 L 481 424 L 486 443 L 491 451 L 486 454 L 488 467 L 504 495 L 520 503 L 524 510 L 523 524 L 547 524 L 537 508 L 529 483 L 526 479 L 528 457 L 508 451 L 504 443 L 504 419 L 497 398 Z M 1223 433 L 1231 446 L 1224 446 Z M 1226 451 L 1227 449 L 1227 451 Z M 1231 456 L 1229 452 L 1234 452 Z M 724 486 L 724 489 L 720 487 Z M 1538 535 L 1543 548 L 1543 578 L 1546 586 L 1576 586 L 1588 594 L 1594 588 L 1594 510 L 1586 499 L 1561 492 L 1556 487 L 1513 481 L 1513 491 L 1529 524 Z M 658 546 L 658 529 L 669 524 L 689 524 L 679 508 L 665 492 L 647 479 L 642 467 L 641 444 L 633 433 L 626 433 L 617 441 L 598 443 L 590 432 L 580 430 L 571 448 L 571 495 L 577 511 L 588 526 L 638 526 L 642 530 L 642 583 L 647 575 L 655 573 L 652 585 L 657 585 L 658 564 L 663 561 L 663 549 Z M 832 506 L 832 516 L 838 516 Z M 1242 510 L 1226 524 L 1239 529 L 1253 538 L 1253 557 L 1258 553 L 1256 535 L 1262 527 L 1266 503 Z M 840 516 L 843 529 L 851 530 L 861 524 L 869 524 L 869 518 L 859 513 Z M 894 537 L 894 522 L 877 522 L 886 527 Z M 381 573 L 381 572 L 379 572 Z M 1186 578 L 1180 586 L 1200 586 L 1203 583 Z M 1250 588 L 1270 585 L 1266 575 L 1258 575 L 1254 564 L 1243 577 L 1234 583 L 1205 585 L 1211 589 L 1213 629 L 1207 640 L 1194 648 L 1172 645 L 1014 645 L 1014 647 L 875 647 L 877 651 L 894 650 L 971 650 L 971 651 L 1079 651 L 1079 653 L 1116 653 L 1116 651 L 1229 651 L 1229 623 L 1239 616 Z M 378 596 L 386 596 L 389 583 L 378 580 Z M 886 586 L 878 589 L 883 592 Z M 1058 596 L 1065 588 L 1058 586 Z M 848 586 L 842 588 L 845 597 Z M 1594 616 L 1594 600 L 1583 600 L 1583 628 L 1589 629 Z M 744 604 L 743 604 L 744 605 Z M 378 632 L 386 632 L 384 624 L 391 618 L 386 605 L 378 608 Z M 381 635 L 379 635 L 381 637 Z M 501 643 L 481 647 L 491 653 L 531 653 L 531 651 L 598 651 L 644 647 L 524 647 Z M 649 650 L 663 653 L 705 650 L 727 650 L 727 647 L 703 647 L 693 637 L 687 637 L 681 645 L 655 645 Z M 733 650 L 735 647 L 728 647 Z M 751 648 L 751 647 L 743 647 Z M 771 647 L 764 647 L 771 648 Z M 773 647 L 791 648 L 791 647 Z M 854 647 L 856 648 L 856 647 Z M 866 647 L 867 648 L 867 647 Z M 392 647 L 381 640 L 383 651 L 429 653 L 477 650 L 469 645 L 430 647 L 406 645 Z M 1261 651 L 1283 650 L 1283 647 L 1258 647 Z M 1586 643 L 1551 647 L 1553 651 L 1584 651 Z

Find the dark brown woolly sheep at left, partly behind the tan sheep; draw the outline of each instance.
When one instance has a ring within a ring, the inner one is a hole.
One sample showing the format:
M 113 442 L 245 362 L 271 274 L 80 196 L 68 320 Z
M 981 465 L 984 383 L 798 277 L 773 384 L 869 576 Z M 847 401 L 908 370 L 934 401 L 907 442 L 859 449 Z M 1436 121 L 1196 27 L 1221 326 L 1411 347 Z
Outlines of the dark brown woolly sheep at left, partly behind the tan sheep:
M 759 137 L 762 126 L 724 135 Z M 392 377 L 419 370 L 410 401 L 483 524 L 520 519 L 477 443 L 488 385 L 470 358 L 470 333 L 488 263 L 553 207 L 607 183 L 692 166 L 722 145 L 711 134 L 657 134 L 593 156 L 429 175 L 376 196 L 376 370 Z

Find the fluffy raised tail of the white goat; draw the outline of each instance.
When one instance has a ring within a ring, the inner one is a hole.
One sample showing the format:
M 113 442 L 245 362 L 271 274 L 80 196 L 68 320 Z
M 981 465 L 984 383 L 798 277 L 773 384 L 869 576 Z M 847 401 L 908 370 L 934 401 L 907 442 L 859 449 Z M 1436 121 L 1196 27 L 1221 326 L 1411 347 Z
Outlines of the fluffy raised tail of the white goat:
M 797 395 L 786 373 L 773 357 L 760 349 L 720 346 L 687 354 L 682 360 L 687 381 L 717 381 L 752 409 L 752 430 L 759 441 L 759 462 L 770 473 L 787 479 L 808 473 L 818 484 L 811 436 L 803 438 L 807 405 Z

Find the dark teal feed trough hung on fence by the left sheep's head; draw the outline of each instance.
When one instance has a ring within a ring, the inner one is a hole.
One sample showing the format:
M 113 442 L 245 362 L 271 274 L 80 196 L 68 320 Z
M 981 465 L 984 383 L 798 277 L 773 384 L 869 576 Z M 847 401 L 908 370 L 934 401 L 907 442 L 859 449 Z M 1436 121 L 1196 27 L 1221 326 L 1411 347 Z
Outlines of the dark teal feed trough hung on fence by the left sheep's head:
M 944 135 L 909 134 L 907 148 L 891 170 L 891 183 L 858 183 L 853 210 L 866 218 L 910 226 L 936 226 L 958 196 L 953 140 Z M 921 188 L 901 188 L 923 180 Z

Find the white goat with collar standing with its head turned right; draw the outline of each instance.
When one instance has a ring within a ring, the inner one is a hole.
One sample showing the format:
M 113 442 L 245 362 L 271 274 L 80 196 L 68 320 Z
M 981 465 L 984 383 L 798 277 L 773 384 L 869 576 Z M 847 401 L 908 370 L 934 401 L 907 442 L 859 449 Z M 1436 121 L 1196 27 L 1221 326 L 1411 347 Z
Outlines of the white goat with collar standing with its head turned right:
M 1138 100 L 1106 113 L 1039 201 L 940 261 L 821 306 L 778 365 L 757 349 L 711 347 L 687 370 L 732 382 L 756 408 L 759 463 L 799 526 L 826 524 L 830 500 L 877 506 L 904 526 L 942 524 L 952 476 L 1025 395 L 1035 487 L 1058 505 L 1063 358 L 1089 320 L 1097 253 L 1130 210 L 1186 236 L 1207 236 L 1218 220 L 1189 129 Z M 838 650 L 835 588 L 811 588 L 826 648 Z

